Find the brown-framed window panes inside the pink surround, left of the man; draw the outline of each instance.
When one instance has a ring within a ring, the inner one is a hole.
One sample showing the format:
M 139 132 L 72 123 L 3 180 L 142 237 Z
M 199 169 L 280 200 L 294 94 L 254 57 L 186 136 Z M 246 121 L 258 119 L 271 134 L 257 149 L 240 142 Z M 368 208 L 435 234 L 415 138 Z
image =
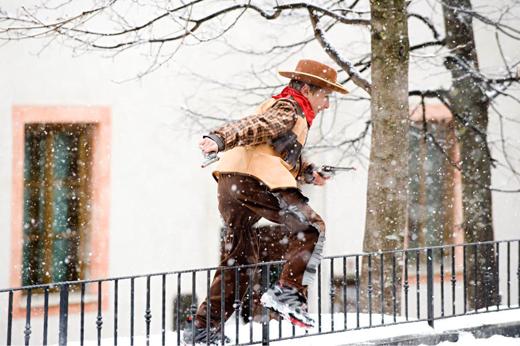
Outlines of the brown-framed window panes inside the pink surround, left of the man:
M 93 128 L 24 127 L 23 285 L 84 278 Z

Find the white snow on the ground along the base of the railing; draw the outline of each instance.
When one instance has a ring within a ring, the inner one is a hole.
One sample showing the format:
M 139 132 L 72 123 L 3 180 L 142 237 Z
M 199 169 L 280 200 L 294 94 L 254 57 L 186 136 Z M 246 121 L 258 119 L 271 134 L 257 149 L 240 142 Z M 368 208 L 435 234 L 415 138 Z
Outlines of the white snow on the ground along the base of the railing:
M 403 319 L 398 319 L 398 321 Z M 385 323 L 390 323 L 392 321 L 391 316 L 385 316 Z M 280 340 L 275 341 L 274 339 L 279 338 L 280 326 L 281 326 L 281 335 L 282 338 L 289 338 L 293 335 L 292 326 L 283 321 L 281 324 L 278 321 L 270 322 L 270 337 L 271 344 L 275 346 L 340 346 L 346 344 L 357 344 L 361 345 L 368 341 L 374 341 L 378 339 L 387 339 L 392 337 L 404 336 L 404 335 L 428 335 L 434 333 L 442 333 L 445 331 L 454 331 L 460 330 L 464 328 L 477 327 L 482 325 L 489 324 L 497 324 L 497 323 L 508 323 L 520 321 L 520 310 L 508 310 L 508 311 L 499 311 L 499 312 L 489 312 L 482 313 L 477 315 L 466 315 L 459 317 L 446 318 L 443 320 L 435 321 L 435 328 L 432 329 L 428 326 L 427 322 L 411 322 L 400 325 L 393 326 L 384 326 L 384 327 L 372 327 L 366 329 L 358 329 L 358 330 L 349 330 L 346 332 L 338 332 L 338 333 L 329 333 L 325 335 L 316 335 L 316 336 L 308 336 L 304 338 L 297 339 L 288 339 L 288 340 Z M 355 328 L 356 314 L 347 314 L 347 327 Z M 366 327 L 368 326 L 369 318 L 367 314 L 360 314 L 360 326 Z M 381 322 L 381 315 L 373 315 L 372 323 L 373 325 L 379 324 Z M 329 332 L 331 330 L 331 319 L 330 315 L 322 315 L 322 332 Z M 334 325 L 335 329 L 343 329 L 344 328 L 344 315 L 343 314 L 335 314 L 334 315 Z M 309 331 L 309 334 L 316 334 L 318 332 L 318 327 Z M 230 318 L 228 323 L 225 326 L 225 333 L 231 339 L 230 345 L 235 344 L 235 336 L 236 336 L 236 324 L 235 319 Z M 249 325 L 239 324 L 238 328 L 239 333 L 239 342 L 247 343 L 251 340 L 251 330 Z M 305 332 L 299 328 L 295 328 L 294 333 L 296 336 L 304 335 Z M 262 326 L 259 323 L 253 323 L 252 330 L 252 340 L 260 343 L 262 337 Z M 114 340 L 112 338 L 106 338 L 102 340 L 102 345 L 114 345 Z M 129 338 L 118 338 L 118 345 L 129 345 Z M 150 345 L 161 345 L 162 344 L 162 336 L 161 335 L 152 335 L 149 340 Z M 443 342 L 440 345 L 450 345 L 453 344 L 451 342 Z M 495 335 L 488 339 L 475 339 L 471 333 L 462 333 L 459 341 L 456 343 L 457 345 L 520 345 L 519 338 L 506 338 L 503 336 Z M 69 345 L 77 346 L 79 343 L 77 342 L 69 342 Z M 86 341 L 85 346 L 95 346 L 97 345 L 96 340 Z M 146 345 L 146 338 L 144 336 L 138 336 L 134 338 L 134 345 Z M 167 332 L 166 333 L 166 345 L 177 345 L 177 333 L 176 332 Z

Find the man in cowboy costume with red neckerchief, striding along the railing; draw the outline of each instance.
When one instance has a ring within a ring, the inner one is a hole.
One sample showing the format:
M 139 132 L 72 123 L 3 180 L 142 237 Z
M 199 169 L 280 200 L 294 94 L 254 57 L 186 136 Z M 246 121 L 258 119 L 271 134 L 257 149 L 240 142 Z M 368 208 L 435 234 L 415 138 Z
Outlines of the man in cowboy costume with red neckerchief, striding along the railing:
M 333 68 L 313 60 L 301 60 L 295 71 L 279 74 L 291 79 L 279 95 L 260 105 L 256 114 L 214 129 L 199 147 L 204 154 L 224 152 L 213 172 L 227 229 L 220 265 L 258 263 L 258 233 L 251 228 L 260 218 L 287 227 L 286 263 L 279 281 L 262 295 L 261 302 L 293 324 L 311 328 L 314 321 L 307 312 L 306 291 L 321 260 L 325 224 L 307 204 L 298 184 L 324 185 L 326 178 L 302 160 L 301 152 L 316 114 L 329 107 L 329 94 L 347 90 L 336 82 Z M 238 275 L 242 298 L 248 276 L 246 271 Z M 190 321 L 194 325 L 185 328 L 184 340 L 218 341 L 221 313 L 227 319 L 234 312 L 234 300 L 235 270 L 217 271 L 209 297 L 199 306 L 195 321 Z M 206 320 L 208 305 L 210 321 Z M 208 323 L 210 328 L 206 328 Z

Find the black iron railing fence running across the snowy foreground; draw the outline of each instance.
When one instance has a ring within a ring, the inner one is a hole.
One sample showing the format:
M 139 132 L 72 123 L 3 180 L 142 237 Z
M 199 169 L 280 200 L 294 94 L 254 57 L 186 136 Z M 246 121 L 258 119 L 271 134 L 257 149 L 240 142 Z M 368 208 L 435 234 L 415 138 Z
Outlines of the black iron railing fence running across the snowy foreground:
M 433 326 L 438 319 L 520 308 L 520 240 L 325 257 L 309 288 L 316 326 L 308 331 L 275 319 L 257 303 L 282 266 L 277 261 L 1 289 L 0 342 L 181 345 L 183 323 L 209 294 L 216 271 L 247 274 L 244 297 L 235 283 L 234 314 L 227 322 L 221 314 L 221 335 L 235 345 L 418 321 Z

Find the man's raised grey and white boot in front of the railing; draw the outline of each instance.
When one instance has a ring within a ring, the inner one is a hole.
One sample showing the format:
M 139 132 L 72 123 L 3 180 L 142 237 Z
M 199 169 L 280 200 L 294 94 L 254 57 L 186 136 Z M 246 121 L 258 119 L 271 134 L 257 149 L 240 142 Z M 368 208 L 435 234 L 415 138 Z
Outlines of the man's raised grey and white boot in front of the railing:
M 314 327 L 314 320 L 307 312 L 306 299 L 296 288 L 276 284 L 262 295 L 260 301 L 295 326 L 305 329 Z

